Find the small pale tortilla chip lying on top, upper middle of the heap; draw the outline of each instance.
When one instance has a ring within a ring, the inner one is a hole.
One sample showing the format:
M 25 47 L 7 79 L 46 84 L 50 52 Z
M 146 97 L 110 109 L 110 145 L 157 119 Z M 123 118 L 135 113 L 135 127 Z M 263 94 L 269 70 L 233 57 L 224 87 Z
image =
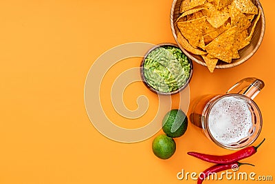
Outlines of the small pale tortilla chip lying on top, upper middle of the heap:
M 230 17 L 228 12 L 223 12 L 219 10 L 215 10 L 211 12 L 210 17 L 207 17 L 207 21 L 214 27 L 219 28 L 225 21 L 227 21 Z

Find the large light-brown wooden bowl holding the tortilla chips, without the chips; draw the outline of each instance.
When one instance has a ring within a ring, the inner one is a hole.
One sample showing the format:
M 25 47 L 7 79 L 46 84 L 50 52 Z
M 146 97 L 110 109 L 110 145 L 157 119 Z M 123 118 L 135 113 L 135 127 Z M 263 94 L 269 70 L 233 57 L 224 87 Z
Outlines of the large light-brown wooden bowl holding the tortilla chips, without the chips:
M 206 63 L 203 61 L 203 59 L 199 55 L 188 52 L 177 41 L 177 32 L 179 32 L 179 29 L 177 28 L 175 21 L 177 21 L 177 18 L 180 16 L 179 10 L 181 6 L 181 1 L 182 0 L 174 0 L 172 4 L 171 12 L 170 12 L 170 25 L 173 32 L 173 36 L 175 38 L 175 41 L 177 42 L 177 45 L 179 45 L 179 48 L 181 48 L 181 50 L 184 52 L 184 54 L 186 54 L 187 57 L 192 59 L 192 61 L 199 63 L 200 65 L 206 66 Z M 216 65 L 215 68 L 232 68 L 236 65 L 240 65 L 241 63 L 250 59 L 250 57 L 252 57 L 253 54 L 255 54 L 255 52 L 258 50 L 259 46 L 261 45 L 261 42 L 263 41 L 263 35 L 265 34 L 265 14 L 263 12 L 263 8 L 259 0 L 252 0 L 252 2 L 259 8 L 259 11 L 261 11 L 261 17 L 258 23 L 256 24 L 256 28 L 252 36 L 252 39 L 250 41 L 250 44 L 245 48 L 239 50 L 239 55 L 240 55 L 239 59 L 232 59 L 232 63 L 225 63 L 225 62 L 219 61 L 219 63 Z M 255 21 L 255 18 L 254 18 L 254 21 Z M 252 25 L 254 21 L 252 22 Z

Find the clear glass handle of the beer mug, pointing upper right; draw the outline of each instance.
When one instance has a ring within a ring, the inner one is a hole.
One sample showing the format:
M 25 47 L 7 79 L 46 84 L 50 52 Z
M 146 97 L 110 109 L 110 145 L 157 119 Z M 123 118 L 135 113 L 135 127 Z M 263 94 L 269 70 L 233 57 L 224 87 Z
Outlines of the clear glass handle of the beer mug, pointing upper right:
M 233 85 L 226 93 L 243 94 L 253 100 L 264 86 L 265 83 L 262 80 L 256 79 L 255 77 L 248 77 Z

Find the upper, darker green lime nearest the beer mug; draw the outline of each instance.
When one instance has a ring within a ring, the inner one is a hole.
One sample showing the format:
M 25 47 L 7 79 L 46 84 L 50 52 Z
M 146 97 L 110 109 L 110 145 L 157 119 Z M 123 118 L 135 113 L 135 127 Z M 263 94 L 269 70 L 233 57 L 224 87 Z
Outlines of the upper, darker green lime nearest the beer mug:
M 182 110 L 170 110 L 162 120 L 162 130 L 170 137 L 182 136 L 188 125 L 186 114 Z

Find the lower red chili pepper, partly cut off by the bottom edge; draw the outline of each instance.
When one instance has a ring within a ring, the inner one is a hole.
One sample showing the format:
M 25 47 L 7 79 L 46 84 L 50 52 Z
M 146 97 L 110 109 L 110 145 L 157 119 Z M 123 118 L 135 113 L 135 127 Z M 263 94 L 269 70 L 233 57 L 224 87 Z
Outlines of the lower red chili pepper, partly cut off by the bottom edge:
M 252 164 L 234 162 L 234 163 L 228 163 L 228 164 L 223 164 L 223 165 L 222 164 L 214 165 L 212 167 L 209 167 L 207 170 L 201 172 L 201 174 L 199 174 L 197 184 L 201 184 L 211 174 L 234 168 L 234 165 L 236 165 L 237 167 L 240 167 L 241 165 L 252 165 Z M 252 165 L 252 166 L 254 166 L 254 165 Z

